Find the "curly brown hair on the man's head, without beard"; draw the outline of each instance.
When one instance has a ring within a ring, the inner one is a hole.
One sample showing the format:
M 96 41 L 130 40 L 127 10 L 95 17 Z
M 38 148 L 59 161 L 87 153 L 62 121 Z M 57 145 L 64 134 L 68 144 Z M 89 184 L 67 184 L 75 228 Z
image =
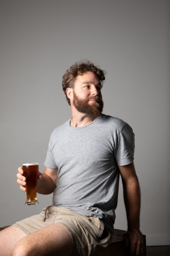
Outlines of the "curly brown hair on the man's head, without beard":
M 99 66 L 94 66 L 93 62 L 89 60 L 83 60 L 81 62 L 76 62 L 72 65 L 63 75 L 62 87 L 68 104 L 70 105 L 70 99 L 67 97 L 66 89 L 74 88 L 75 80 L 78 75 L 83 75 L 86 71 L 92 71 L 95 75 L 97 75 L 102 83 L 105 80 L 106 72 L 101 70 Z

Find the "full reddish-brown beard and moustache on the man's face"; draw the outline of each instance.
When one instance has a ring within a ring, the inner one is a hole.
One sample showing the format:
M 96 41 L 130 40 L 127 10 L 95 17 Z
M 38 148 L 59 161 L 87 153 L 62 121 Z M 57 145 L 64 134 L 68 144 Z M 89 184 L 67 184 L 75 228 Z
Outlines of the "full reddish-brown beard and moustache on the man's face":
M 86 114 L 88 117 L 95 119 L 99 117 L 103 111 L 104 102 L 100 99 L 99 96 L 91 96 L 87 99 L 80 99 L 76 93 L 73 91 L 74 100 L 72 103 L 74 104 L 75 108 L 81 112 Z M 96 102 L 93 104 L 89 104 L 88 101 L 94 99 Z

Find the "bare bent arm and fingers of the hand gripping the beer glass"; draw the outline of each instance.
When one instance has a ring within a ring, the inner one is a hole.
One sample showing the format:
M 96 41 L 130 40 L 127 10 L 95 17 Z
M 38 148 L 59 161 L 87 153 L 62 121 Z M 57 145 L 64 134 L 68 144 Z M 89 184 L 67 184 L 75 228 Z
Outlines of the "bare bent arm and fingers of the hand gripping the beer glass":
M 18 168 L 17 183 L 20 184 L 20 189 L 26 191 L 26 178 L 23 176 L 22 167 Z M 54 192 L 56 181 L 58 178 L 58 169 L 45 168 L 44 173 L 39 173 L 37 193 L 48 195 Z

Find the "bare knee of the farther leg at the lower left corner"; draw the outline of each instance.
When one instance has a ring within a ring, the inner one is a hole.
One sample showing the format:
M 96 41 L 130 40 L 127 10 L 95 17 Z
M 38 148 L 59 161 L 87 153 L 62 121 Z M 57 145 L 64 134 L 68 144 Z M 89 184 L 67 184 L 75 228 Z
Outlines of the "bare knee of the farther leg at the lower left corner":
M 18 227 L 10 226 L 0 232 L 0 255 L 11 256 L 15 245 L 27 234 Z

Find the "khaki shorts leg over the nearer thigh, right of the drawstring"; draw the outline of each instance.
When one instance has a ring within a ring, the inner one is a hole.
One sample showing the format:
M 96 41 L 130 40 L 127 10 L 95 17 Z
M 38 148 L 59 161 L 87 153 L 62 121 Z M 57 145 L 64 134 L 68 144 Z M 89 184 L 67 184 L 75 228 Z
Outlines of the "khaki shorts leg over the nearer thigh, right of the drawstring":
M 54 210 L 57 212 L 55 223 L 61 223 L 71 233 L 72 256 L 90 256 L 111 243 L 112 233 L 99 218 L 86 217 L 65 208 L 54 207 Z

